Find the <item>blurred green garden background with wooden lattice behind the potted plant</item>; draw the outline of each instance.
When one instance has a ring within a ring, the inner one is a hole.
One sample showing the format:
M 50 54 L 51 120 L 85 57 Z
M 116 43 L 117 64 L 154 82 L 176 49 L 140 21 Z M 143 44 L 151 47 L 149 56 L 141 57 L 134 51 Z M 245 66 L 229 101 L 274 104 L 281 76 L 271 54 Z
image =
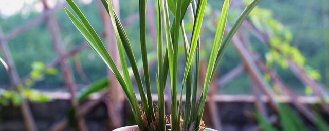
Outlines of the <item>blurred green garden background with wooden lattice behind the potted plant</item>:
M 113 2 L 140 59 L 139 3 Z M 103 6 L 92 0 L 77 3 L 113 51 L 115 41 Z M 153 85 L 157 72 L 154 3 L 150 0 L 147 10 Z M 208 1 L 200 78 L 222 4 Z M 232 2 L 227 28 L 247 4 Z M 0 1 L 0 58 L 9 67 L 0 66 L 0 130 L 111 130 L 134 124 L 120 87 L 108 82 L 112 74 L 71 23 L 65 5 L 62 0 Z M 185 17 L 190 20 L 190 13 Z M 191 34 L 192 28 L 187 22 L 186 31 Z M 180 58 L 181 68 L 184 59 Z M 181 80 L 182 71 L 179 75 Z M 329 2 L 262 1 L 223 56 L 204 120 L 217 130 L 327 130 L 328 87 Z M 273 107 L 276 102 L 279 107 Z

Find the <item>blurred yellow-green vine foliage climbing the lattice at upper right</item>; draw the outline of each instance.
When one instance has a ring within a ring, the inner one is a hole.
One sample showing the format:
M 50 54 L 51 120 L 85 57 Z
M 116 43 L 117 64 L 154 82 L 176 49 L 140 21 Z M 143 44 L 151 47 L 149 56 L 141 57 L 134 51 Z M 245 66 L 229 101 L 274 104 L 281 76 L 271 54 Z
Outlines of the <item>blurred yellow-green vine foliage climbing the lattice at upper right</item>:
M 287 58 L 291 59 L 301 68 L 306 70 L 307 75 L 314 79 L 320 80 L 320 73 L 305 64 L 306 58 L 301 54 L 297 47 L 292 46 L 291 40 L 293 33 L 285 28 L 278 20 L 273 18 L 271 10 L 255 7 L 250 13 L 250 20 L 253 25 L 260 31 L 266 31 L 269 35 L 270 51 L 266 54 L 268 66 L 273 63 L 279 64 L 282 68 L 288 68 Z

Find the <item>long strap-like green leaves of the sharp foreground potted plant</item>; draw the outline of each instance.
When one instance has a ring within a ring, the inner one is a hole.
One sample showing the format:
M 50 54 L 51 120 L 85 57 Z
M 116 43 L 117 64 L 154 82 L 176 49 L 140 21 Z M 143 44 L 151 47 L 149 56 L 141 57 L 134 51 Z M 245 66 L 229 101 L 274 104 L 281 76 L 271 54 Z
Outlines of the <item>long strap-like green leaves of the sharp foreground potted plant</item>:
M 224 30 L 226 26 L 228 9 L 231 3 L 230 0 L 224 1 L 221 17 L 218 19 L 218 26 L 213 40 L 213 48 L 210 53 L 207 73 L 203 85 L 203 91 L 200 98 L 197 100 L 198 72 L 199 72 L 199 34 L 203 23 L 204 12 L 207 5 L 207 0 L 200 0 L 197 3 L 193 0 L 157 0 L 157 62 L 158 72 L 156 73 L 156 88 L 158 95 L 157 110 L 154 110 L 153 101 L 151 97 L 151 81 L 148 67 L 147 42 L 146 42 L 146 25 L 145 25 L 145 11 L 146 0 L 139 1 L 139 27 L 140 27 L 140 46 L 142 63 L 144 69 L 143 85 L 141 75 L 138 71 L 136 58 L 131 47 L 131 42 L 127 38 L 126 32 L 113 10 L 111 0 L 101 0 L 109 16 L 114 28 L 117 45 L 119 50 L 120 62 L 122 65 L 122 72 L 116 67 L 112 57 L 108 54 L 104 43 L 96 33 L 92 25 L 90 25 L 87 18 L 72 0 L 67 0 L 69 6 L 72 8 L 71 13 L 64 7 L 67 15 L 72 23 L 76 26 L 89 46 L 96 52 L 96 54 L 106 63 L 109 69 L 113 72 L 126 97 L 132 107 L 135 120 L 140 130 L 166 130 L 166 114 L 165 114 L 165 87 L 167 76 L 169 73 L 170 90 L 171 90 L 171 115 L 170 124 L 171 130 L 203 130 L 204 123 L 202 121 L 204 106 L 206 102 L 209 84 L 212 80 L 217 65 L 219 64 L 229 41 L 241 25 L 242 21 L 247 17 L 250 11 L 260 2 L 260 0 L 252 1 L 246 9 L 242 12 L 239 18 L 234 23 L 232 29 L 223 39 Z M 192 7 L 192 36 L 188 39 L 184 28 L 184 16 L 187 13 L 188 7 Z M 173 20 L 170 20 L 170 16 Z M 172 24 L 171 24 L 172 23 Z M 177 104 L 177 90 L 178 84 L 178 45 L 182 39 L 184 45 L 184 53 L 186 58 L 186 65 L 184 68 L 184 77 L 181 83 L 181 93 L 179 102 Z M 130 79 L 129 68 L 127 61 L 130 62 L 133 75 L 135 77 L 137 87 L 141 97 L 141 104 L 138 103 L 136 94 L 133 90 L 133 85 Z M 146 90 L 146 92 L 145 92 Z M 184 112 L 181 113 L 183 91 L 186 91 L 186 101 Z

